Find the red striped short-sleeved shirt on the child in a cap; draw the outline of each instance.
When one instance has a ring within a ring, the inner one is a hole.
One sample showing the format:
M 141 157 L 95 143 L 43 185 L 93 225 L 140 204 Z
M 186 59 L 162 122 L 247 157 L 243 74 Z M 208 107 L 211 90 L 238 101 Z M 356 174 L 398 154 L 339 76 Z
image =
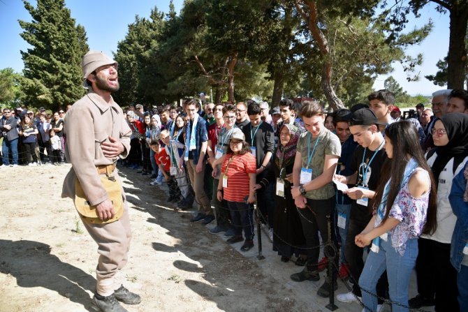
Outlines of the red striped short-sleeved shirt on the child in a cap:
M 230 162 L 231 158 L 233 160 Z M 251 153 L 228 154 L 221 166 L 221 172 L 228 176 L 228 187 L 224 188 L 224 199 L 230 202 L 244 202 L 245 197 L 249 196 L 249 173 L 256 173 L 255 157 Z

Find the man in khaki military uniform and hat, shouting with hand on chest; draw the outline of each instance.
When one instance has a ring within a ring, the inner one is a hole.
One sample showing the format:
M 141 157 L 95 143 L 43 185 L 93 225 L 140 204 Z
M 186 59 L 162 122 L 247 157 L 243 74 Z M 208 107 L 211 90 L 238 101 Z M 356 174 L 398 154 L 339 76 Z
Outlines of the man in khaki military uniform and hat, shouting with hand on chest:
M 92 308 L 123 312 L 127 310 L 118 301 L 126 304 L 141 301 L 139 295 L 122 285 L 131 230 L 128 205 L 115 169 L 117 159 L 129 154 L 131 130 L 122 109 L 110 95 L 119 89 L 117 62 L 102 52 L 89 51 L 83 57 L 82 70 L 88 94 L 65 115 L 66 159 L 72 168 L 66 175 L 62 197 L 75 200 L 85 228 L 98 244 Z M 112 200 L 108 184 L 117 186 L 117 196 Z

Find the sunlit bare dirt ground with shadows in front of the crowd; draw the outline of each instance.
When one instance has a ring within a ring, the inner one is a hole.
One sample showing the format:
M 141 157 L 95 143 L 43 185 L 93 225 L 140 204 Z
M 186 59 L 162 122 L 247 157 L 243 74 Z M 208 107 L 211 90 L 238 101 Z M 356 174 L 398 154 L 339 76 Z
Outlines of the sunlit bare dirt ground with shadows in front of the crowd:
M 69 168 L 0 168 L 1 312 L 92 311 L 98 254 L 73 202 L 60 198 Z M 168 207 L 166 186 L 149 186 L 136 170 L 121 176 L 133 231 L 125 285 L 142 296 L 141 304 L 124 305 L 129 311 L 329 311 L 328 299 L 316 297 L 323 278 L 291 281 L 302 267 L 280 262 L 265 235 L 265 260 L 258 260 L 257 248 L 242 253 L 241 243 L 210 234 L 214 222 L 193 224 L 193 211 Z

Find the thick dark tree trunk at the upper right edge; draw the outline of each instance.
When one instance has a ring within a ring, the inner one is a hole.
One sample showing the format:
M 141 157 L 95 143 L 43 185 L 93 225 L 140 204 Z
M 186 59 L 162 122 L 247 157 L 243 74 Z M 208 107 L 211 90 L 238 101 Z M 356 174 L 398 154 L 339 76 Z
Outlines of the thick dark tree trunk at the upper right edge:
M 453 8 L 450 12 L 450 40 L 447 57 L 447 88 L 463 89 L 467 77 L 467 36 L 468 6 Z

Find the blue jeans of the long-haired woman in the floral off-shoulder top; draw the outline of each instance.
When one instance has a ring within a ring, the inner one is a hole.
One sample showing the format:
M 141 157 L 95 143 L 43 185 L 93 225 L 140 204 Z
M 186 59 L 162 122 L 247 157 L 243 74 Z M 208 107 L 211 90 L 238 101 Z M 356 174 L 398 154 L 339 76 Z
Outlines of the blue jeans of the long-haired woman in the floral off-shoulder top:
M 418 240 L 409 239 L 404 255 L 397 253 L 392 246 L 391 235 L 387 242 L 380 239 L 378 253 L 370 251 L 364 264 L 363 273 L 359 278 L 359 286 L 363 294 L 363 304 L 371 311 L 377 309 L 376 284 L 381 274 L 387 270 L 388 292 L 390 300 L 400 305 L 392 304 L 392 312 L 409 311 L 408 286 L 411 272 L 418 257 Z M 370 293 L 372 294 L 370 294 Z

